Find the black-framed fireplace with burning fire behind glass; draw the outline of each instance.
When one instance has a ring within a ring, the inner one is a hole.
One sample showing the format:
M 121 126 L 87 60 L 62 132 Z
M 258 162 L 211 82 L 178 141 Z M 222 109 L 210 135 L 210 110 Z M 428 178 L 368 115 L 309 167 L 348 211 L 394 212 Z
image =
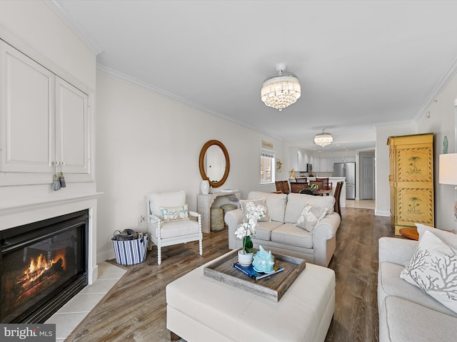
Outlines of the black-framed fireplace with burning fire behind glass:
M 44 323 L 88 284 L 89 212 L 0 231 L 0 322 Z

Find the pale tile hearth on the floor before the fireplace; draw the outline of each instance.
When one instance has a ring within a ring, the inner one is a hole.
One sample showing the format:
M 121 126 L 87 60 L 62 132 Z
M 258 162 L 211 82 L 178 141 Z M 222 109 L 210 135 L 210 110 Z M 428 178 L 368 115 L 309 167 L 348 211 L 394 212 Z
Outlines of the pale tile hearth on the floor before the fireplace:
M 126 273 L 125 269 L 106 261 L 98 266 L 96 282 L 82 289 L 45 322 L 56 324 L 56 342 L 63 342 Z

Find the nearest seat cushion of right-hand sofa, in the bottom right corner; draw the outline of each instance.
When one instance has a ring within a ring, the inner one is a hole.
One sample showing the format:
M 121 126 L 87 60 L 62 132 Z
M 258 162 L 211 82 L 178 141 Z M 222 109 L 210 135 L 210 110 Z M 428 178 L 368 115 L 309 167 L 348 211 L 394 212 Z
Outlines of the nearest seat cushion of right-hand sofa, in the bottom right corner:
M 455 341 L 456 318 L 395 296 L 384 303 L 388 341 Z

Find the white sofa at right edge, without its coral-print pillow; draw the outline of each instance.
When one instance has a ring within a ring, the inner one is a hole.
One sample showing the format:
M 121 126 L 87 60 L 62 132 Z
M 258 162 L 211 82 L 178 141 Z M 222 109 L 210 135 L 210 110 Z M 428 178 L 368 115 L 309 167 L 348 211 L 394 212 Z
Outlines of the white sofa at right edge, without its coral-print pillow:
M 440 239 L 449 232 L 418 227 L 419 236 L 431 230 Z M 418 287 L 400 278 L 418 242 L 394 237 L 379 239 L 379 341 L 456 341 L 457 314 Z

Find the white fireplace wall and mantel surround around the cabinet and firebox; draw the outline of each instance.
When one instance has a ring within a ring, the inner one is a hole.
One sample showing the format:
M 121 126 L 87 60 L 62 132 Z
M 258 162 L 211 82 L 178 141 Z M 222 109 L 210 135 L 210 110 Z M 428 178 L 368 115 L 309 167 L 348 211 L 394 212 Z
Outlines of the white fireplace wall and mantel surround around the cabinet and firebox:
M 44 1 L 0 1 L 0 38 L 83 90 L 94 104 L 96 56 Z M 94 106 L 91 115 L 94 115 Z M 90 145 L 94 157 L 93 141 Z M 91 175 L 94 175 L 93 166 Z M 84 182 L 75 179 L 73 175 L 66 175 L 66 188 L 54 192 L 52 174 L 1 173 L 0 229 L 89 209 L 91 284 L 97 277 L 93 258 L 96 254 L 96 185 L 91 177 L 84 177 Z

